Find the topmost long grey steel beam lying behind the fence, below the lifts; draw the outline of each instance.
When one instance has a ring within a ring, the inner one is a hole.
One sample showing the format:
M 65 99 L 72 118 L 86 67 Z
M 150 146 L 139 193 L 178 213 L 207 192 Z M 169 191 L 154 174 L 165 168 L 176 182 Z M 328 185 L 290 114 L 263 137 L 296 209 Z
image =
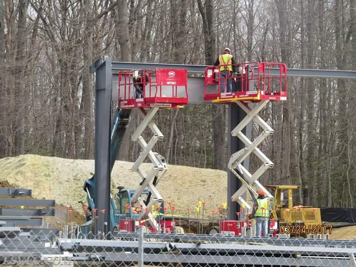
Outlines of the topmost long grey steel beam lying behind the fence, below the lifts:
M 116 238 L 138 238 L 136 232 L 114 232 Z M 190 234 L 164 234 L 164 233 L 144 233 L 145 239 L 159 239 L 169 242 L 239 242 L 239 243 L 266 243 L 272 245 L 287 246 L 333 246 L 333 247 L 353 247 L 356 248 L 356 241 L 333 240 L 333 239 L 307 239 L 307 238 L 268 238 L 268 237 L 248 237 L 248 236 L 222 236 L 222 235 L 190 235 Z

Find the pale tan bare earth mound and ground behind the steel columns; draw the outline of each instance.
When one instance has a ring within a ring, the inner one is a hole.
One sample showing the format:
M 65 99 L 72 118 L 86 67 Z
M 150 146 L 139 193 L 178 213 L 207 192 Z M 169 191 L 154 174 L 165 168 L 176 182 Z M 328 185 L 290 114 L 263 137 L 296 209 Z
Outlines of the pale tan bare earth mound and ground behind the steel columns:
M 137 173 L 130 170 L 132 165 L 133 163 L 124 161 L 115 163 L 111 174 L 112 195 L 117 191 L 118 185 L 130 189 L 137 187 L 140 178 Z M 148 172 L 151 164 L 143 164 L 142 168 Z M 157 188 L 166 203 L 172 201 L 172 205 L 176 207 L 175 215 L 187 217 L 187 208 L 190 208 L 189 217 L 197 218 L 195 207 L 199 201 L 205 201 L 204 218 L 209 218 L 209 221 L 213 222 L 211 211 L 217 211 L 218 207 L 226 202 L 226 172 L 173 165 L 169 165 L 168 168 Z M 61 228 L 66 220 L 84 222 L 84 212 L 78 201 L 87 203 L 83 184 L 94 173 L 94 160 L 21 155 L 0 159 L 0 173 L 0 187 L 32 189 L 32 198 L 56 201 L 55 218 L 45 219 L 49 227 Z M 67 205 L 73 207 L 70 218 L 67 216 Z M 218 218 L 214 219 L 215 224 L 217 220 Z M 186 228 L 187 221 L 181 223 Z M 196 230 L 196 223 L 192 222 L 190 226 L 191 231 Z M 347 226 L 333 229 L 330 237 L 351 239 L 355 236 L 356 226 Z

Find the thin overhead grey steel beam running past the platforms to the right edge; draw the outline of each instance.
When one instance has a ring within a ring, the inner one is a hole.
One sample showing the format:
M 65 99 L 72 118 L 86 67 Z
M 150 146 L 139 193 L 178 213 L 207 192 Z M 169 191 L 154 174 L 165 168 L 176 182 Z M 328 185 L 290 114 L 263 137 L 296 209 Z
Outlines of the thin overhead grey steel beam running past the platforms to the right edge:
M 112 70 L 133 70 L 133 69 L 186 69 L 188 72 L 204 73 L 207 65 L 183 65 L 183 64 L 162 64 L 162 63 L 135 63 L 135 62 L 111 62 Z M 257 71 L 257 69 L 255 70 Z M 272 69 L 271 75 L 278 75 L 277 69 Z M 340 78 L 356 79 L 356 71 L 349 70 L 320 70 L 320 69 L 287 69 L 287 76 L 305 78 Z

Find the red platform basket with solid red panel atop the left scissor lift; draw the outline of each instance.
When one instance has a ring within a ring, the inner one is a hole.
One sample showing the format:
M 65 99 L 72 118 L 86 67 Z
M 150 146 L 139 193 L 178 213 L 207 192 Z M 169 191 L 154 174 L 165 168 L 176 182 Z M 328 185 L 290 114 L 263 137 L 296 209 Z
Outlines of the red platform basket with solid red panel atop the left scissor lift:
M 142 90 L 137 97 L 136 91 Z M 187 70 L 149 69 L 119 72 L 119 107 L 178 108 L 188 104 Z

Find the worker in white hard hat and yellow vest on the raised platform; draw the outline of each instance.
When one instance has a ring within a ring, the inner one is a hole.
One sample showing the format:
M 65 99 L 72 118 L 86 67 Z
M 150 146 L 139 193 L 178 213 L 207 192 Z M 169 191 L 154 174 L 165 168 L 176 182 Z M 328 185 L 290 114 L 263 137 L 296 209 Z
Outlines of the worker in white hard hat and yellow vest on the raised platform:
M 236 62 L 233 56 L 231 55 L 231 51 L 229 48 L 225 48 L 225 50 L 223 50 L 222 54 L 219 55 L 218 59 L 214 63 L 214 66 L 228 65 L 220 67 L 221 92 L 225 92 L 226 89 L 227 92 L 232 92 L 232 74 L 234 74 L 234 76 L 237 76 L 236 66 L 234 64 L 236 64 Z

